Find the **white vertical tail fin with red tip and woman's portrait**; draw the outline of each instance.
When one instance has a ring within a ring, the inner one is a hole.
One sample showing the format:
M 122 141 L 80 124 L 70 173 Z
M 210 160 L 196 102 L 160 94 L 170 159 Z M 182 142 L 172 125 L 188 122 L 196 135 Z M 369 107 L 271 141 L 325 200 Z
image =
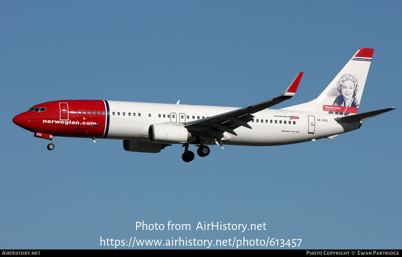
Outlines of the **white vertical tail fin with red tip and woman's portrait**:
M 374 49 L 370 48 L 359 49 L 316 99 L 284 109 L 338 115 L 356 114 L 373 52 Z

